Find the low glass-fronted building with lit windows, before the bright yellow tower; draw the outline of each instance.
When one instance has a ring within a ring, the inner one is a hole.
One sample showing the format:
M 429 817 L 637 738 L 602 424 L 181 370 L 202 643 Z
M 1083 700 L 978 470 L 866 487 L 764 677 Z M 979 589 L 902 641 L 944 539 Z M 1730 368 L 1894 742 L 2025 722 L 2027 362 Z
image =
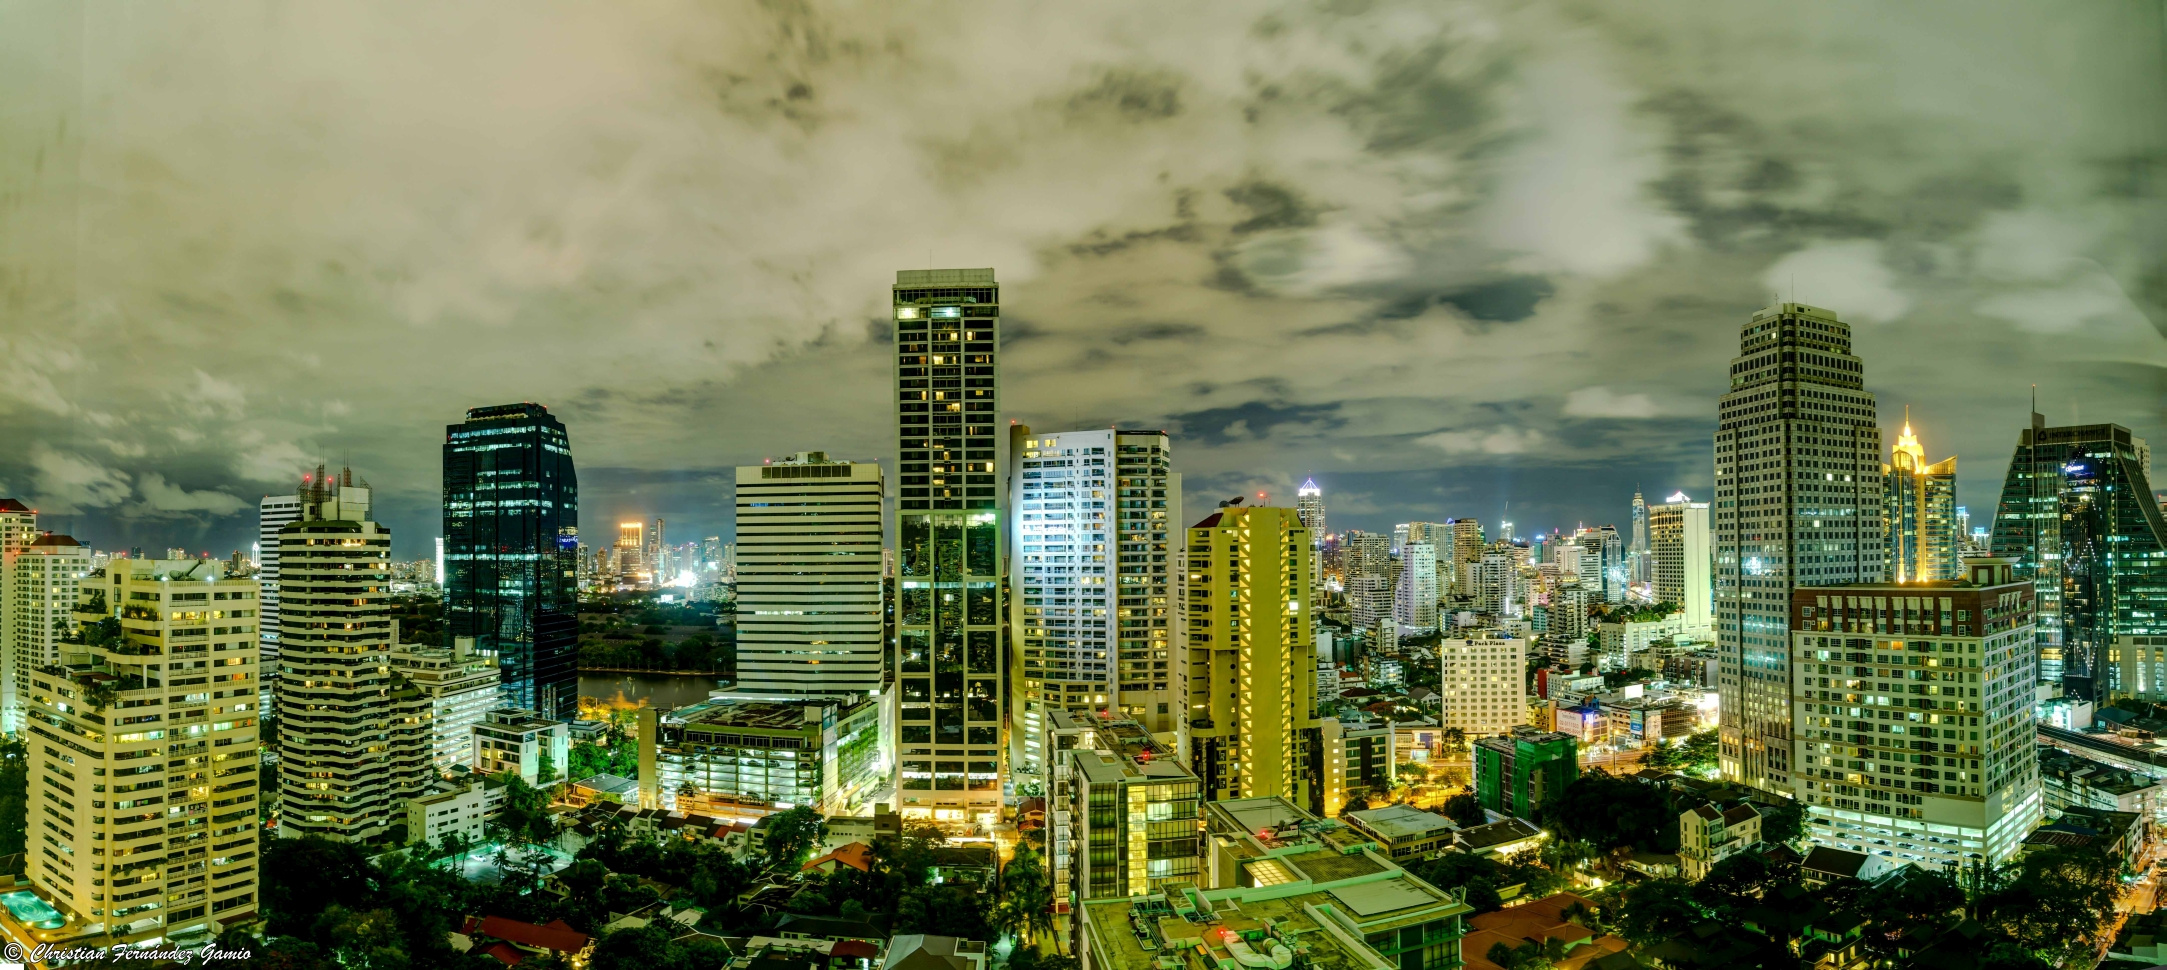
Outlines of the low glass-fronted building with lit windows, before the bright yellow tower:
M 1062 899 L 1142 896 L 1194 883 L 1198 782 L 1136 721 L 1099 721 L 1060 753 L 1070 818 Z M 1073 894 L 1073 896 L 1070 896 Z

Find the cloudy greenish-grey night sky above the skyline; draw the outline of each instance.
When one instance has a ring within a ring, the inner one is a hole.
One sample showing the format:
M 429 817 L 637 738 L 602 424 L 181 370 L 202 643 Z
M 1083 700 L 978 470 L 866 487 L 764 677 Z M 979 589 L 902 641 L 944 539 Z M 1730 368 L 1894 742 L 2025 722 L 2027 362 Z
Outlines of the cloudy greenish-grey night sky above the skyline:
M 1001 407 L 1190 502 L 1623 522 L 1738 325 L 1855 325 L 1991 507 L 2030 385 L 2167 448 L 2156 0 L 0 0 L 0 496 L 223 554 L 351 463 L 563 416 L 589 535 L 891 459 L 895 268 L 995 266 Z M 1506 504 L 1510 502 L 1510 511 Z

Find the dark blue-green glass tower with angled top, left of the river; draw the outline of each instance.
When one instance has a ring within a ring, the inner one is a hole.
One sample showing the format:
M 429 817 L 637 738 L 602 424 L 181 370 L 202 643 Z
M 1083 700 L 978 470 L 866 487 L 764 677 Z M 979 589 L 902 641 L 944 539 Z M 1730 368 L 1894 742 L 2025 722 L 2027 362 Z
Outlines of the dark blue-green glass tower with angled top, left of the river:
M 496 654 L 507 706 L 579 715 L 579 474 L 542 405 L 444 429 L 444 637 Z

